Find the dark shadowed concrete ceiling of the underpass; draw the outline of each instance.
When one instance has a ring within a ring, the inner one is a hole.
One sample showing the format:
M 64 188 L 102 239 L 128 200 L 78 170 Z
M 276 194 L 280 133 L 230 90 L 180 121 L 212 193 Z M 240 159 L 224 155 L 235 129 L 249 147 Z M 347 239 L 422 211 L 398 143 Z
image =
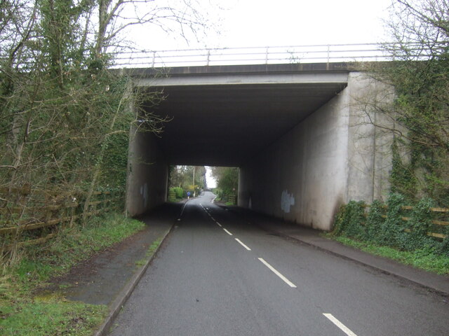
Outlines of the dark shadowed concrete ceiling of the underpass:
M 151 109 L 171 118 L 161 149 L 171 165 L 242 165 L 344 89 L 346 83 L 170 85 Z

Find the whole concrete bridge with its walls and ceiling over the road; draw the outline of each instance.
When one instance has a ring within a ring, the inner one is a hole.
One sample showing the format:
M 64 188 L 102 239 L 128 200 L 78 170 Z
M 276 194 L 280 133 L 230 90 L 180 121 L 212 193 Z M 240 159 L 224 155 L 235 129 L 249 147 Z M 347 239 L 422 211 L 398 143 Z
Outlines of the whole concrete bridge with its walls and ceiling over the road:
M 173 120 L 130 142 L 131 215 L 166 202 L 169 165 L 239 167 L 240 207 L 322 230 L 340 204 L 388 188 L 392 135 L 365 109 L 388 95 L 347 63 L 134 72 L 136 87 L 166 96 L 140 107 Z

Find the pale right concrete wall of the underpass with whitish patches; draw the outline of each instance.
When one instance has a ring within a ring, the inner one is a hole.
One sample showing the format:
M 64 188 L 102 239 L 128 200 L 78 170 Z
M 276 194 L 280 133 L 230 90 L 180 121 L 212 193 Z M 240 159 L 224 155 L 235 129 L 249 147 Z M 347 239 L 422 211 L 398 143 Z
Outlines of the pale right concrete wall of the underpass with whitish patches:
M 340 94 L 241 167 L 239 206 L 330 230 L 342 203 L 382 198 L 392 134 L 369 123 L 376 116 L 365 106 L 388 99 L 386 90 L 350 73 Z

